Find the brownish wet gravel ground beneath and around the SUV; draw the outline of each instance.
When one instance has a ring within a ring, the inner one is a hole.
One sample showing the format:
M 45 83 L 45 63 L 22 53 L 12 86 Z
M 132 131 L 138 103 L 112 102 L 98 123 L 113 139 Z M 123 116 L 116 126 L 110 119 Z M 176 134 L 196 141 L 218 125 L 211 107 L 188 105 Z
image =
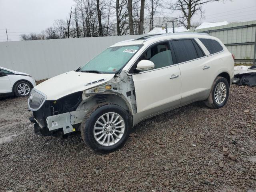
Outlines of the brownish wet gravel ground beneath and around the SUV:
M 0 100 L 0 191 L 256 191 L 256 87 L 224 108 L 196 102 L 145 120 L 125 146 L 34 134 L 27 98 Z

